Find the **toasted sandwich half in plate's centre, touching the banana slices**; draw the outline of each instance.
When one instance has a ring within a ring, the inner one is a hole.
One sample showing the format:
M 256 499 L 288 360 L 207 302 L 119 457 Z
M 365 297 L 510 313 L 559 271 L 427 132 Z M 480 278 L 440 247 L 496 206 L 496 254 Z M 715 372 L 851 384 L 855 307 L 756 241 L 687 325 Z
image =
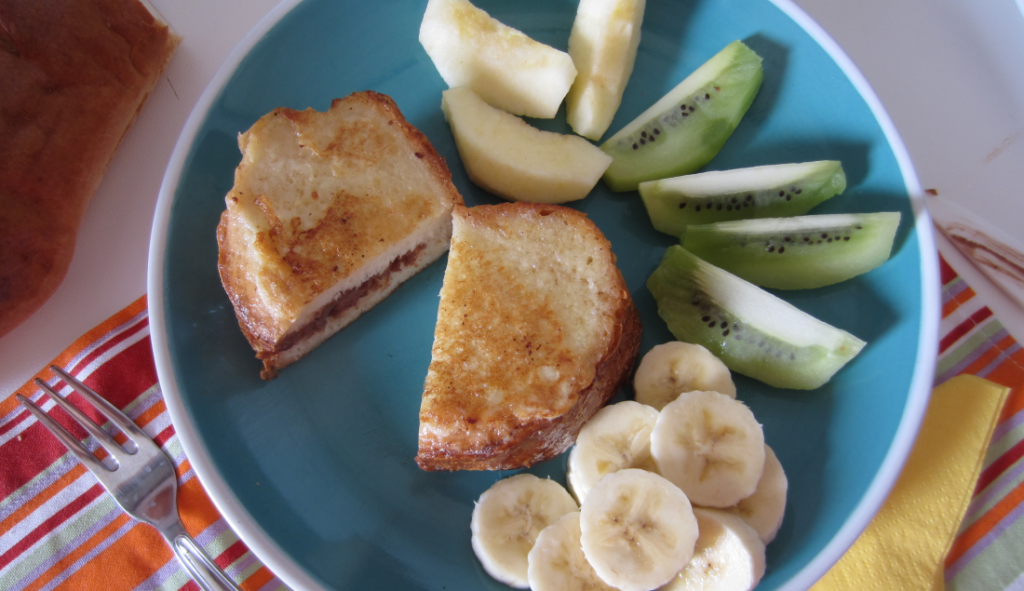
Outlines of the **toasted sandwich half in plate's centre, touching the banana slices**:
M 425 470 L 553 458 L 629 378 L 640 318 L 583 213 L 457 207 L 420 408 Z

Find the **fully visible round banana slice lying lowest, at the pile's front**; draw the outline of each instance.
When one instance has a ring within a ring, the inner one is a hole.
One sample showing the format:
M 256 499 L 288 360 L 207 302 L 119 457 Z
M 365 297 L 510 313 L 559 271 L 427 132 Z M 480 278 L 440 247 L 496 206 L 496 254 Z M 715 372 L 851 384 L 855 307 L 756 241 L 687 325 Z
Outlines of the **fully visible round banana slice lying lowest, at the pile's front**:
M 580 542 L 602 581 L 622 591 L 668 583 L 690 561 L 697 521 L 662 476 L 629 468 L 601 478 L 580 509 Z

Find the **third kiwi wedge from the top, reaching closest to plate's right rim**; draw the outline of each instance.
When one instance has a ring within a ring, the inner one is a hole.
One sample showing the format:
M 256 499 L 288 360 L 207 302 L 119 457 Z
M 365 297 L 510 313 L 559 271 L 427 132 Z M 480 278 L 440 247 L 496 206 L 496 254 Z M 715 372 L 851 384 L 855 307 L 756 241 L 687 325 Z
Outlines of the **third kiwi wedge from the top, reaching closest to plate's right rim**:
M 690 225 L 683 247 L 761 287 L 807 289 L 889 260 L 899 212 L 839 213 Z

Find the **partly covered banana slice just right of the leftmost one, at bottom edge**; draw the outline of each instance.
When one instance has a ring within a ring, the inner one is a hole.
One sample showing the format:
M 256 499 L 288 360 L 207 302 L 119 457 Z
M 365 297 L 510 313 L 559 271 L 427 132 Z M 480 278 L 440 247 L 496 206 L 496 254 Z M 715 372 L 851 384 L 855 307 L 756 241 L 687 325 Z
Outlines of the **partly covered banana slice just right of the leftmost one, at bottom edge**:
M 587 561 L 580 535 L 579 511 L 562 515 L 541 532 L 528 556 L 532 591 L 615 591 Z

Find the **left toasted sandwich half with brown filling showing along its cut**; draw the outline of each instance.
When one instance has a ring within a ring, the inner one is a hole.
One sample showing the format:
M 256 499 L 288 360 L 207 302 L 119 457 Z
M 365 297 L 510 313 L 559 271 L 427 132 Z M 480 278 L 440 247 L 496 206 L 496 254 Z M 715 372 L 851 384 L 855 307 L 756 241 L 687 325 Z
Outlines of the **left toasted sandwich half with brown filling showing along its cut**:
M 265 379 L 447 250 L 462 197 L 390 97 L 278 109 L 239 137 L 221 282 Z

